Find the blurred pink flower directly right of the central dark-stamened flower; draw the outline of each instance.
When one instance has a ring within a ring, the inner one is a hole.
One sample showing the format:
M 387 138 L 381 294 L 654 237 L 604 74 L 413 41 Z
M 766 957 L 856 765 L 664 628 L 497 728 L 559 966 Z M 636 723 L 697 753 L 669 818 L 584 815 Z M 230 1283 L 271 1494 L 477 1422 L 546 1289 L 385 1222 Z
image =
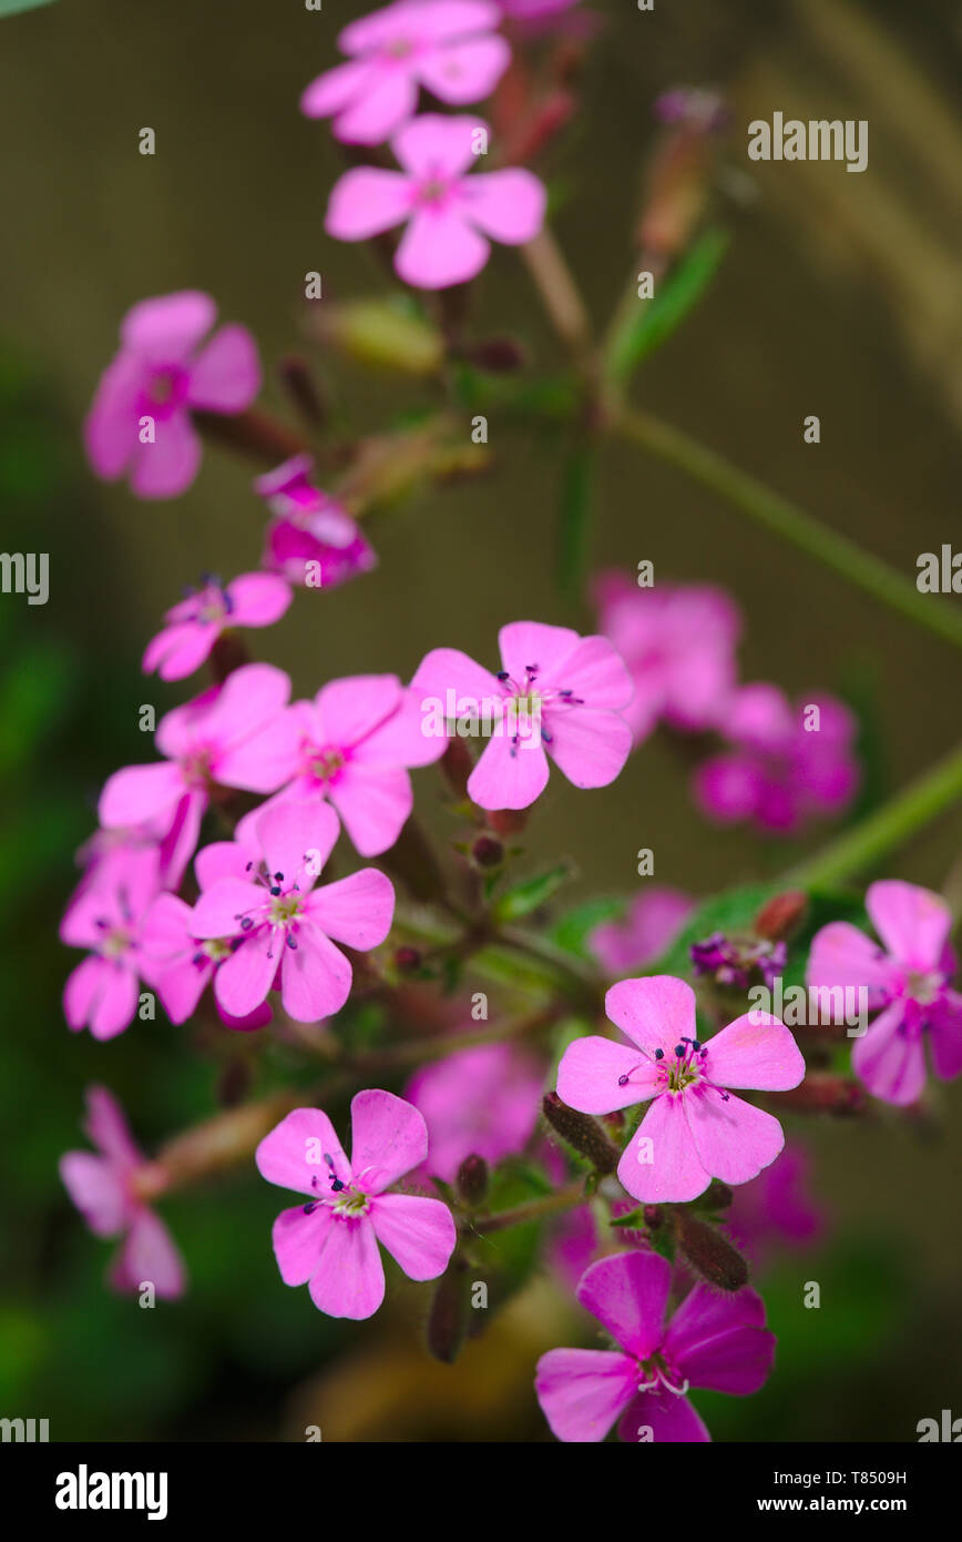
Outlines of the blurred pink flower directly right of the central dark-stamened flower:
M 708 584 L 640 589 L 620 572 L 597 580 L 595 600 L 635 688 L 624 712 L 635 743 L 660 720 L 689 732 L 714 726 L 735 685 L 734 601 Z

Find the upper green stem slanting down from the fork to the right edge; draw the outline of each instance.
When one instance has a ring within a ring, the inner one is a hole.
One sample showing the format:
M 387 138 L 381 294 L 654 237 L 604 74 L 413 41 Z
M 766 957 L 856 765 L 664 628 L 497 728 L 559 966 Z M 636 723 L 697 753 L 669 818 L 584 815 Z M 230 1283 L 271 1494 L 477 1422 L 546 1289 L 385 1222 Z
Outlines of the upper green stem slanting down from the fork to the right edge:
M 846 535 L 819 524 L 797 504 L 772 492 L 748 472 L 738 470 L 681 429 L 661 423 L 651 413 L 624 409 L 615 416 L 615 432 L 669 466 L 677 466 L 757 524 L 780 535 L 893 611 L 925 626 L 944 641 L 962 648 L 962 608 L 947 604 L 937 595 L 920 594 L 911 578 L 896 572 L 871 552 L 862 550 Z

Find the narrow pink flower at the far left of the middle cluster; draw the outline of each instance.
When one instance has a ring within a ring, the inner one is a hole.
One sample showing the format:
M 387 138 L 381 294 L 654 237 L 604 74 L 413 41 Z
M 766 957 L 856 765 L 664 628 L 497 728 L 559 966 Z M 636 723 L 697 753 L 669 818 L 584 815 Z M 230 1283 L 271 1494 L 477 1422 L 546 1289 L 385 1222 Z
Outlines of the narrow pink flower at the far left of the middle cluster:
M 151 981 L 142 928 L 159 888 L 156 847 L 117 847 L 82 879 L 60 922 L 62 942 L 91 950 L 63 988 L 71 1029 L 89 1027 L 96 1039 L 113 1039 L 131 1022 L 139 979 Z

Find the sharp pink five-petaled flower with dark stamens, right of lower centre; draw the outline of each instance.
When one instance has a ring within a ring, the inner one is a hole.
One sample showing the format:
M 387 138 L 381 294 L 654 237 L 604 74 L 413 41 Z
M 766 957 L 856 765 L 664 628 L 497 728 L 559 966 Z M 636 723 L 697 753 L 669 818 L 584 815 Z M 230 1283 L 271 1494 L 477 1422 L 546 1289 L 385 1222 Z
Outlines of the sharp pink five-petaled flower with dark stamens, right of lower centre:
M 635 1047 L 575 1039 L 561 1056 L 558 1096 L 581 1113 L 652 1099 L 618 1163 L 635 1200 L 694 1200 L 712 1178 L 748 1183 L 775 1160 L 785 1144 L 779 1121 L 726 1089 L 799 1086 L 805 1061 L 779 1018 L 752 1010 L 701 1044 L 695 993 L 671 975 L 620 981 L 604 1010 Z

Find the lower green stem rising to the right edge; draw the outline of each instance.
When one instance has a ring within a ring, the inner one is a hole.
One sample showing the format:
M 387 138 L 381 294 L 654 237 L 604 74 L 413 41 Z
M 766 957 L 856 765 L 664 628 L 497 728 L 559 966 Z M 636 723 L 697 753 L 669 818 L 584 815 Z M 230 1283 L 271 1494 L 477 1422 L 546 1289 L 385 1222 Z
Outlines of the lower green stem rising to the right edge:
M 959 799 L 962 799 L 962 746 L 953 749 L 854 830 L 848 830 L 823 851 L 786 873 L 785 882 L 799 887 L 843 882 L 886 856 Z

